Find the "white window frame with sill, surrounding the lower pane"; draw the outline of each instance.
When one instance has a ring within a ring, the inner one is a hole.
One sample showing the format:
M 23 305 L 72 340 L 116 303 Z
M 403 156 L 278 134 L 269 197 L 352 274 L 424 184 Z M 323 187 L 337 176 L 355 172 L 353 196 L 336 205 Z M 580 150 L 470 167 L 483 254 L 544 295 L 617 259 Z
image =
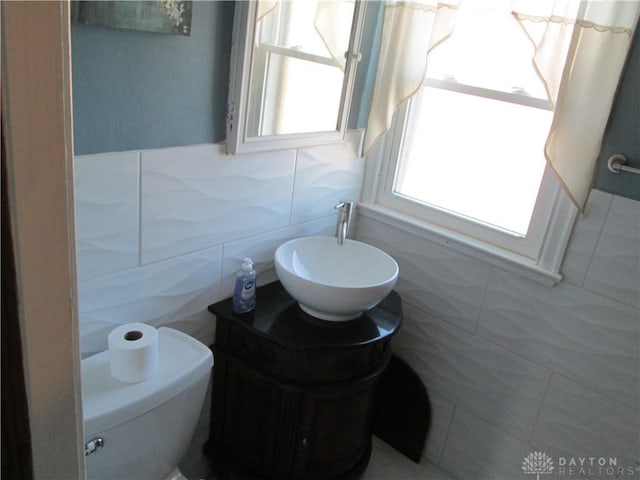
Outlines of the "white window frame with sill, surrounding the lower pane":
M 464 86 L 458 88 L 464 89 Z M 482 238 L 478 238 L 478 230 L 487 232 L 490 229 L 476 222 L 455 218 L 456 215 L 452 213 L 440 211 L 434 219 L 424 214 L 429 207 L 393 193 L 411 102 L 412 99 L 407 100 L 396 110 L 389 131 L 368 155 L 360 213 L 543 284 L 559 283 L 562 280 L 562 260 L 578 209 L 564 193 L 548 165 L 532 216 L 530 233 L 527 238 L 516 242 L 528 243 L 524 250 L 514 248 L 509 242 L 496 241 L 495 235 L 480 235 Z M 491 230 L 495 233 L 494 229 Z

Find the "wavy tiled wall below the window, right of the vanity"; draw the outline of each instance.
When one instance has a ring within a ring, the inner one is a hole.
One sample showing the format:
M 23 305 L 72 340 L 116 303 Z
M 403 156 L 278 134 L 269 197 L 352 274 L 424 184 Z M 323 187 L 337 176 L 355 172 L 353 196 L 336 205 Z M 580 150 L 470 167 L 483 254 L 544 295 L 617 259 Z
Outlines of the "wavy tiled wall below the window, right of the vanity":
M 424 459 L 458 478 L 640 479 L 640 202 L 593 191 L 548 287 L 361 216 L 357 238 L 400 265 L 396 353 L 432 393 Z M 619 288 L 622 286 L 622 288 Z M 558 469 L 613 457 L 624 474 Z M 543 475 L 540 474 L 540 478 Z

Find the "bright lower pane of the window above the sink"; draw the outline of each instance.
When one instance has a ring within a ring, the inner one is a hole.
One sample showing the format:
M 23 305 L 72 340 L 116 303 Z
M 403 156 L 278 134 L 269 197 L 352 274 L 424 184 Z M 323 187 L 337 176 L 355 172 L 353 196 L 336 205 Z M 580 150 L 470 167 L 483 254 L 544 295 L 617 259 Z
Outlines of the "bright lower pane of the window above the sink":
M 524 236 L 552 115 L 424 87 L 412 104 L 394 192 Z

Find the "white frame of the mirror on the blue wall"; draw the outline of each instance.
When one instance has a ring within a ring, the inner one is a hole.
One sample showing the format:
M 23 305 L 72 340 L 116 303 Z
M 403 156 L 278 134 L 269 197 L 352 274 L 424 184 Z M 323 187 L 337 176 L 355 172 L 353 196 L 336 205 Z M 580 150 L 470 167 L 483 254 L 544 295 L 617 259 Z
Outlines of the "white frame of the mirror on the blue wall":
M 227 101 L 227 154 L 264 152 L 288 148 L 338 143 L 344 140 L 351 97 L 355 83 L 356 67 L 360 61 L 360 40 L 364 22 L 366 1 L 355 0 L 350 52 L 345 64 L 344 81 L 337 128 L 325 132 L 304 132 L 281 135 L 247 135 L 248 100 L 250 95 L 251 66 L 253 61 L 253 39 L 255 36 L 258 2 L 236 2 L 233 19 L 233 43 L 231 68 L 229 71 L 229 97 Z

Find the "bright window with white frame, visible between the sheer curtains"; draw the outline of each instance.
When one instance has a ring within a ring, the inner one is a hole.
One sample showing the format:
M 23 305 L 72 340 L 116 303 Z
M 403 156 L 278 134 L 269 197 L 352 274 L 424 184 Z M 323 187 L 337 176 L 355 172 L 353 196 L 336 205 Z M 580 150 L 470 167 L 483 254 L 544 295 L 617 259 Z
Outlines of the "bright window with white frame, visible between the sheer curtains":
M 461 7 L 396 113 L 376 202 L 557 282 L 576 211 L 546 171 L 553 106 L 518 22 L 481 3 Z

